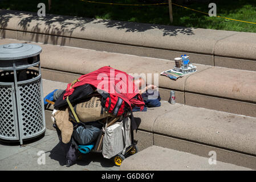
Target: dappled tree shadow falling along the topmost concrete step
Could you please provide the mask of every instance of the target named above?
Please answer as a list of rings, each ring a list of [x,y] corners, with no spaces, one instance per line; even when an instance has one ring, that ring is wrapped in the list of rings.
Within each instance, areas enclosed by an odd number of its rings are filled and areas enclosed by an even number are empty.
[[[72,37],[75,30],[76,32],[84,31],[90,23],[100,24],[100,26],[103,25],[103,27],[109,28],[109,31],[112,31],[112,28],[116,28],[118,30],[125,30],[125,32],[146,32],[149,30],[160,31],[162,36],[177,36],[179,34],[194,35],[193,28],[188,27],[91,19],[53,14],[46,14],[46,17],[39,17],[37,13],[12,10],[0,10],[0,22],[0,30],[5,30],[6,28],[11,27],[14,31],[18,29],[18,31],[23,32],[23,35],[27,34],[27,32],[32,32],[29,36],[34,42],[39,42],[39,37],[46,35],[43,38],[43,43],[50,42],[51,44],[60,44],[61,46],[66,42],[66,39],[63,39],[63,37]],[[2,31],[0,36],[5,38],[5,31]],[[40,40],[40,42],[42,42],[42,40]]]

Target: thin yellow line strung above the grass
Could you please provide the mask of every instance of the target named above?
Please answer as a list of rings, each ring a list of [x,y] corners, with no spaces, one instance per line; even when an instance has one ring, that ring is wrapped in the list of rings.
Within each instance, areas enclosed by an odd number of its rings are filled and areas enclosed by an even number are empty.
[[[98,4],[104,4],[104,5],[120,5],[120,6],[152,6],[152,5],[166,5],[166,4],[169,4],[168,2],[165,2],[165,3],[147,4],[147,5],[129,5],[129,4],[108,3],[108,2],[95,2],[95,1],[86,1],[86,0],[79,0],[79,1],[89,2],[89,3],[98,3]],[[196,12],[198,12],[198,13],[202,13],[202,14],[209,15],[208,13],[205,13],[205,12],[203,12],[203,11],[194,10],[194,9],[189,8],[189,7],[177,5],[177,4],[175,4],[175,3],[172,3],[172,5],[180,6],[180,7],[183,7],[183,8],[185,8],[185,9],[188,9],[188,10],[192,10],[192,11],[196,11]],[[226,18],[226,17],[222,17],[222,16],[215,16],[215,17],[224,18],[224,19],[229,19],[229,20],[234,20],[234,21],[237,21],[237,22],[256,24],[255,22],[246,22],[246,21],[243,21],[243,20],[232,19],[232,18]]]

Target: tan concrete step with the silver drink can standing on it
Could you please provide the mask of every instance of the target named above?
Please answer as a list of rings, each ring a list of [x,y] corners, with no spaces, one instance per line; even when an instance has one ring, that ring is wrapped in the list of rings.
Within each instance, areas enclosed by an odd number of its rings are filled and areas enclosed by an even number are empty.
[[[66,86],[43,80],[44,96]],[[53,129],[51,109],[46,110],[48,129]],[[139,150],[156,145],[206,158],[209,151],[216,151],[221,162],[256,169],[256,118],[166,101],[134,116],[139,123],[134,131]]]

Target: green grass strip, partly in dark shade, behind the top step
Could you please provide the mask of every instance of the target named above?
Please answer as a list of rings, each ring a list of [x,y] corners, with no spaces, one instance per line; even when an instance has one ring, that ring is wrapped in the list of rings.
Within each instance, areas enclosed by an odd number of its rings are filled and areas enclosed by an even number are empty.
[[[96,2],[143,4],[142,0],[91,0]],[[47,6],[47,12],[58,15],[83,16],[87,18],[101,18],[124,20],[129,22],[168,24],[168,5],[157,6],[119,6],[103,5],[96,3],[82,2],[79,0],[52,0],[52,9],[48,10],[48,0],[0,0],[0,9],[38,11],[38,3],[43,2]],[[168,2],[145,0],[147,3]],[[255,0],[216,0],[210,1],[217,5],[217,15],[227,18],[256,22],[256,1]],[[208,13],[208,3],[190,3],[184,5],[192,9]],[[197,13],[182,7],[173,5],[173,23],[175,26],[212,28],[218,30],[256,32],[256,24],[235,22],[217,17]]]

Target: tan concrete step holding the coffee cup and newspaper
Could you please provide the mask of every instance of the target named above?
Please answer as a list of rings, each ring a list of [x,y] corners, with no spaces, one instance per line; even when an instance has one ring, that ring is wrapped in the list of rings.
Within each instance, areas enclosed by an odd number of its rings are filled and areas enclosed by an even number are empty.
[[[1,44],[22,43],[1,39]],[[35,43],[38,44],[38,43]],[[160,76],[173,68],[174,61],[38,44],[42,77],[59,82],[72,82],[80,75],[110,65],[127,73],[145,75],[148,81],[159,85],[162,100],[168,101],[170,90],[176,91],[176,102],[256,117],[256,72],[194,64],[197,72],[176,81]],[[192,60],[193,62],[193,60]]]

